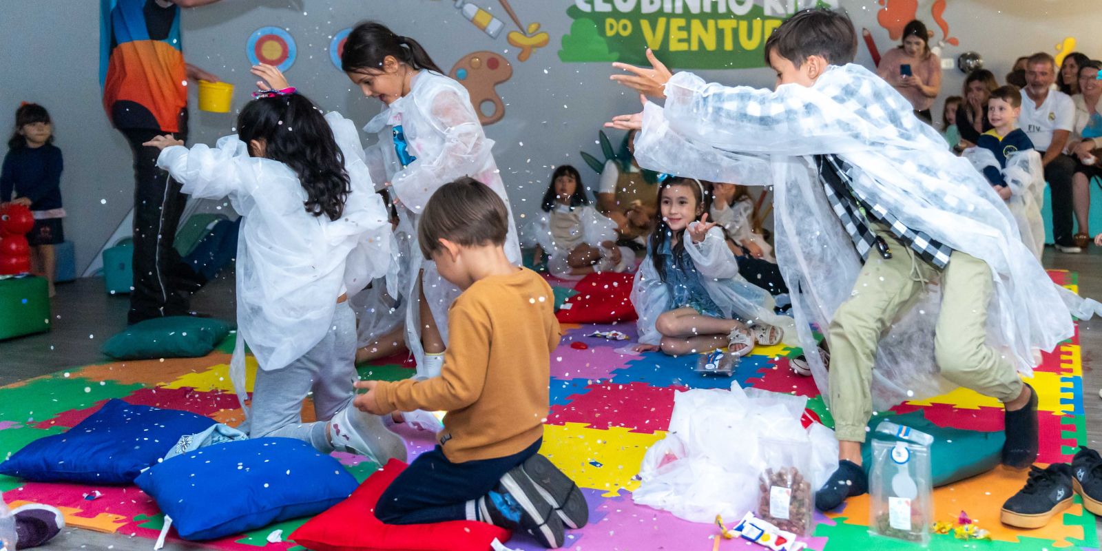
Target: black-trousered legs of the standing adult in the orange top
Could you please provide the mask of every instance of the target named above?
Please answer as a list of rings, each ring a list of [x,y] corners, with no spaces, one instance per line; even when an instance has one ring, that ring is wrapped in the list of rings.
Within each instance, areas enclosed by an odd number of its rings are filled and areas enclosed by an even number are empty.
[[[171,132],[123,129],[122,133],[134,156],[134,288],[130,293],[128,322],[184,315],[188,300],[179,290],[177,270],[182,261],[173,241],[186,197],[180,193],[180,183],[156,166],[160,150],[142,145],[154,136]]]

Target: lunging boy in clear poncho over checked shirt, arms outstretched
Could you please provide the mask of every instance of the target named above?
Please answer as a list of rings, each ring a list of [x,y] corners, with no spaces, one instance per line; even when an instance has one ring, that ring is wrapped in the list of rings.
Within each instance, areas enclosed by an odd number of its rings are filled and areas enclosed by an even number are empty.
[[[776,91],[671,76],[648,53],[653,68],[615,64],[630,74],[613,79],[665,96],[665,109],[646,104],[608,123],[642,130],[645,168],[775,186],[777,259],[840,444],[820,509],[866,491],[861,443],[874,398],[933,396],[941,379],[1003,401],[1003,462],[1028,466],[1037,399],[1016,371],[1072,335],[1071,314],[1098,307],[1051,282],[985,179],[851,63],[856,45],[846,17],[797,13],[766,42]],[[812,324],[827,334],[829,372]]]

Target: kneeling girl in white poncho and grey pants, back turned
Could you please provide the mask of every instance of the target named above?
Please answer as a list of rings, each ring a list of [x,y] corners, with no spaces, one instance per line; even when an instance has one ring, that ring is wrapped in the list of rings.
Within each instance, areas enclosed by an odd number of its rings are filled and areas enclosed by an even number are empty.
[[[269,78],[271,83],[273,79]],[[280,78],[282,80],[282,78]],[[229,197],[241,215],[237,347],[230,376],[250,437],[285,436],[321,452],[406,458],[383,421],[352,406],[356,318],[347,298],[386,273],[390,225],[352,121],[322,116],[294,88],[257,93],[237,136],[191,150],[171,136],[158,165],[195,197]],[[339,144],[339,145],[338,145]],[[245,346],[257,357],[246,409]],[[313,392],[317,420],[303,423]]]

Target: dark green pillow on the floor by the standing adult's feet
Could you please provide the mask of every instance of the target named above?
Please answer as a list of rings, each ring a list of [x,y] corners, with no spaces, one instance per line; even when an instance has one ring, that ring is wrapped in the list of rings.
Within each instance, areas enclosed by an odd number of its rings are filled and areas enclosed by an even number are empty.
[[[209,317],[154,317],[122,329],[100,350],[115,359],[197,358],[210,354],[233,328]]]

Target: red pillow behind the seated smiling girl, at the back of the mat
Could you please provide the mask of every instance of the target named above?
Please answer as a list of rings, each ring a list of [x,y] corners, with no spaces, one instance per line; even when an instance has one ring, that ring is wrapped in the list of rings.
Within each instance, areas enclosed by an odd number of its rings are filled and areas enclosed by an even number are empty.
[[[616,323],[639,317],[631,305],[630,273],[591,273],[574,285],[577,294],[566,299],[555,317],[560,323]],[[570,306],[566,306],[570,304]]]

